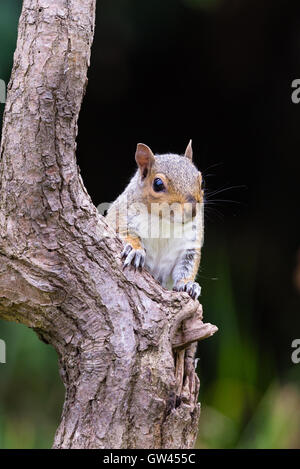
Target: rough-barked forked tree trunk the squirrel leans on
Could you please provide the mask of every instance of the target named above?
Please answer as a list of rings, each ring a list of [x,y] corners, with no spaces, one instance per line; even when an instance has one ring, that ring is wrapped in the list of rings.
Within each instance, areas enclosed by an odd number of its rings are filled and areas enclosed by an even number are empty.
[[[190,448],[199,382],[194,369],[182,376],[176,401],[172,343],[216,328],[187,294],[122,270],[121,241],[76,164],[95,4],[23,3],[1,143],[0,318],[57,350],[66,398],[55,448]]]

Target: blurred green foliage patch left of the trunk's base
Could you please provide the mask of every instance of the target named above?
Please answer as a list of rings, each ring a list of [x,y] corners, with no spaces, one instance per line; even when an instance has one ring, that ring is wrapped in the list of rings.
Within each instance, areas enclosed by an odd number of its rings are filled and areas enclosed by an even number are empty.
[[[56,352],[20,324],[0,321],[0,337],[0,448],[49,448],[64,395]]]

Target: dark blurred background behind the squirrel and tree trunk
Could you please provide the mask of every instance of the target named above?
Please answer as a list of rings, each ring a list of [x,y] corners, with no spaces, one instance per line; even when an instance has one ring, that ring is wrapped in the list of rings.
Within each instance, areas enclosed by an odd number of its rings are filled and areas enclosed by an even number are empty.
[[[206,181],[198,280],[205,319],[220,330],[198,350],[197,444],[300,447],[300,364],[291,361],[300,338],[300,104],[291,100],[300,78],[299,0],[97,4],[78,136],[94,203],[124,189],[137,142],[182,153],[192,138]],[[6,81],[20,5],[0,6]],[[0,446],[49,446],[63,397],[55,354],[20,326],[1,322],[0,338],[8,348]]]

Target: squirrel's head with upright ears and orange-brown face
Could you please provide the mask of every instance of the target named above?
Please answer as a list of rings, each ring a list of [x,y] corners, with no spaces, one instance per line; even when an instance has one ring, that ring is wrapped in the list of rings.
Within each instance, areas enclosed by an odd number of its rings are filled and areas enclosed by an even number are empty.
[[[154,155],[147,145],[138,143],[135,159],[142,198],[147,201],[149,210],[152,203],[195,207],[203,202],[202,175],[192,161],[191,140],[184,155]]]

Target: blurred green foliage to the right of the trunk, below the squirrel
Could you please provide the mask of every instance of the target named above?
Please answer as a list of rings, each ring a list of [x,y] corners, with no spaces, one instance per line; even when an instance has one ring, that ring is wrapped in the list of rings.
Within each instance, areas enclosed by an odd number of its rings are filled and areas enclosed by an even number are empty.
[[[291,349],[279,375],[272,350],[259,349],[251,324],[251,269],[242,310],[224,248],[226,235],[223,245],[216,241],[216,233],[208,233],[198,278],[205,286],[204,317],[217,324],[219,332],[198,350],[203,411],[197,447],[299,448],[299,371],[291,362]],[[204,275],[208,272],[217,273],[213,284]]]

